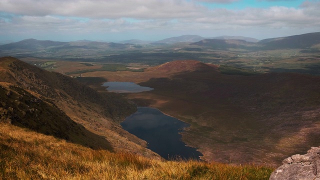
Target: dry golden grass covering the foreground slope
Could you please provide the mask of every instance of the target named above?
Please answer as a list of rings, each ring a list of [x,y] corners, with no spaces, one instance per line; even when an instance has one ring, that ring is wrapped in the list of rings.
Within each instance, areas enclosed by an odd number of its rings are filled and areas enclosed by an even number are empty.
[[[0,179],[268,179],[272,170],[92,150],[0,123]]]

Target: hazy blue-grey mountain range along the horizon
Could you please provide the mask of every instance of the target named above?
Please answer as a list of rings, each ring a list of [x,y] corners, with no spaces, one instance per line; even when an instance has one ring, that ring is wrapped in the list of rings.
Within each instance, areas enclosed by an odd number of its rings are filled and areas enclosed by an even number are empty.
[[[83,51],[91,50],[89,53],[94,55],[98,52],[105,53],[106,51],[115,52],[116,50],[124,50],[130,48],[148,48],[152,46],[166,46],[175,44],[177,47],[191,50],[232,50],[242,49],[245,51],[257,50],[274,50],[274,49],[302,49],[310,52],[320,52],[318,48],[320,45],[320,32],[306,33],[301,35],[292,35],[286,37],[268,38],[258,41],[257,39],[243,36],[218,36],[218,37],[201,37],[199,35],[181,35],[178,37],[170,37],[159,41],[142,41],[131,39],[120,41],[122,43],[114,42],[97,42],[89,40],[78,40],[72,42],[59,42],[51,40],[36,40],[24,39],[18,42],[0,45],[1,55],[12,55],[12,52],[26,52],[26,50],[44,50],[45,56],[50,56],[50,53],[69,53],[69,50]],[[183,44],[177,44],[184,42]],[[189,43],[187,43],[189,42]],[[2,53],[1,53],[2,52]],[[5,53],[3,53],[5,52]],[[29,53],[29,51],[27,51]],[[37,51],[39,53],[39,51]],[[44,52],[41,51],[43,54]],[[74,51],[74,53],[76,53]]]

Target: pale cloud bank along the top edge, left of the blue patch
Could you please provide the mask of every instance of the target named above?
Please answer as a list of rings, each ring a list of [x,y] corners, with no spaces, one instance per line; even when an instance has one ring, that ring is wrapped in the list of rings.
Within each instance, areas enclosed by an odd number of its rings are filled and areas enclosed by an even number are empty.
[[[204,6],[184,0],[4,0],[0,2],[0,11],[8,13],[110,19],[183,18],[200,15],[203,10]]]

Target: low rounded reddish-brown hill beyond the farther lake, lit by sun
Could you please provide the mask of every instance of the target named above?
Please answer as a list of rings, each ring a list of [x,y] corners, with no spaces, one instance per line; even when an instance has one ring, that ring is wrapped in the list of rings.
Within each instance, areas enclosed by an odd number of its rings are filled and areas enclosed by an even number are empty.
[[[145,71],[154,72],[207,72],[217,71],[217,65],[202,63],[197,60],[175,60],[164,64],[150,67]]]

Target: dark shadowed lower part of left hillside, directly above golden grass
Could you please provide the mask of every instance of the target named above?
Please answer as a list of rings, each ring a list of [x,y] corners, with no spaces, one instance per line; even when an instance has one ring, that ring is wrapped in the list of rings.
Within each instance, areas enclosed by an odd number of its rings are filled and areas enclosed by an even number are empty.
[[[0,85],[0,116],[0,122],[25,127],[92,149],[112,151],[111,144],[103,136],[73,121],[51,101],[38,98],[18,86]]]

